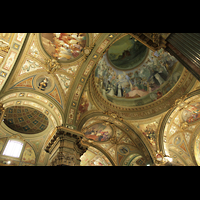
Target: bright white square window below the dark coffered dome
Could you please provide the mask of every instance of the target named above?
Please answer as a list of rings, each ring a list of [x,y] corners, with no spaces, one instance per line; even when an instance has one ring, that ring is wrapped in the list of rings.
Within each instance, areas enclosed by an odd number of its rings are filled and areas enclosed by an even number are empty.
[[[9,140],[3,152],[3,155],[19,158],[22,147],[23,143],[16,140]]]

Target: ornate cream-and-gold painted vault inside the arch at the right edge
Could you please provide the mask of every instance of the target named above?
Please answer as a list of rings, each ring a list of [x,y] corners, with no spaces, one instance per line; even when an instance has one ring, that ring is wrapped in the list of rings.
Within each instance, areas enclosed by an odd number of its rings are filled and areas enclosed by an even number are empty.
[[[163,151],[182,165],[199,165],[199,100],[195,95],[180,101],[165,125]]]

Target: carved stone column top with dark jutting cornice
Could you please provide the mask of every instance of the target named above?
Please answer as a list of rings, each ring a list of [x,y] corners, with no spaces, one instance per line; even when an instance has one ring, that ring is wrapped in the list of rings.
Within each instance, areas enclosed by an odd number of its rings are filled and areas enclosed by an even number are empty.
[[[88,146],[83,143],[83,133],[66,127],[58,127],[56,134],[47,144],[50,166],[80,166],[80,157]]]

